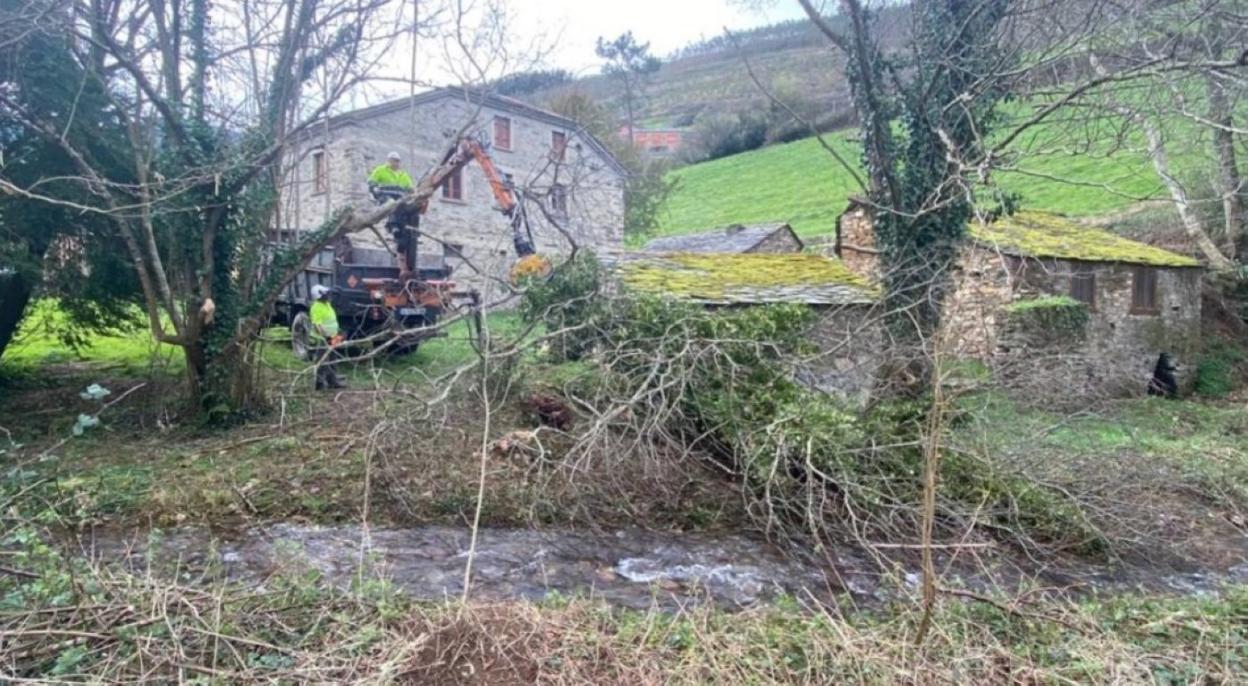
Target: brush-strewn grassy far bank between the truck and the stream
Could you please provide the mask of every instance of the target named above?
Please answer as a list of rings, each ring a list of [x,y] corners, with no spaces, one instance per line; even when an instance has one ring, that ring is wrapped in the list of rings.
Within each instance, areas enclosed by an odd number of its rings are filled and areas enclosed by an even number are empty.
[[[493,438],[532,438],[490,459],[485,524],[688,529],[744,519],[733,486],[695,459],[635,459],[638,447],[622,439],[565,468],[578,427],[567,433],[544,427],[524,403],[529,384],[547,378],[538,369],[514,379],[493,408]],[[276,395],[273,413],[226,432],[176,425],[176,405],[162,403],[176,398],[170,379],[99,380],[115,393],[149,385],[110,409],[100,428],[69,442],[76,414],[90,412],[77,397],[85,378],[19,387],[0,405],[0,428],[21,444],[11,452],[22,465],[20,478],[5,490],[37,483],[24,494],[24,510],[55,511],[66,526],[240,528],[362,516],[393,525],[462,524],[475,505],[475,440],[484,420],[468,379],[437,403],[409,385],[371,389],[363,382],[338,395],[286,393]]]

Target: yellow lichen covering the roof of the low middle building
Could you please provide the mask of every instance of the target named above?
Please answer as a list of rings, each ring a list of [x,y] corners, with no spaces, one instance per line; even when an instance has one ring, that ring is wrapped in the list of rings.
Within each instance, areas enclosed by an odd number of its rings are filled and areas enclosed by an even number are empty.
[[[626,286],[695,299],[734,299],[766,289],[846,287],[875,297],[839,259],[802,253],[665,253],[622,266]]]

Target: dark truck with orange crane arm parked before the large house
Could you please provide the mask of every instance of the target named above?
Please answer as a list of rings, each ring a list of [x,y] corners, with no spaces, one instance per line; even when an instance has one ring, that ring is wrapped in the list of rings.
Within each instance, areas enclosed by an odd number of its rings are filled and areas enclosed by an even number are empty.
[[[474,138],[456,141],[443,165],[461,168],[475,160],[485,172],[498,210],[509,221],[513,244],[519,259],[537,261],[539,271],[549,271],[549,262],[537,254],[533,233],[519,195],[504,181],[489,158],[488,146]],[[378,202],[398,200],[409,188],[371,188]],[[479,317],[480,296],[459,289],[452,279],[452,268],[441,253],[417,249],[419,220],[426,205],[409,211],[397,211],[386,222],[393,246],[386,248],[357,244],[351,236],[322,248],[312,261],[286,286],[273,307],[272,323],[290,327],[291,348],[300,359],[313,354],[312,326],[308,319],[312,287],[329,288],[329,298],[338,313],[338,329],[344,337],[344,350],[383,344],[392,354],[409,353],[421,342],[444,336],[438,319],[451,311],[466,311]],[[293,237],[293,236],[288,236]]]

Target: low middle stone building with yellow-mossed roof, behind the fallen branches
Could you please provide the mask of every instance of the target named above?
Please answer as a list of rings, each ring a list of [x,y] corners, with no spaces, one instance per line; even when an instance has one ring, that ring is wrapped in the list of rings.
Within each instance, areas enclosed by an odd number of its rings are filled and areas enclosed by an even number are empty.
[[[799,367],[811,387],[866,402],[882,333],[879,289],[840,261],[794,253],[623,253],[605,256],[620,288],[706,307],[805,304],[816,312],[817,352]]]

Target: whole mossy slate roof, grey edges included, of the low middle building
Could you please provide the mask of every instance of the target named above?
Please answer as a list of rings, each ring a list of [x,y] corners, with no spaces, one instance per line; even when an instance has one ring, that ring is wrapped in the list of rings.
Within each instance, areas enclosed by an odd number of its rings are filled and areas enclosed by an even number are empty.
[[[802,253],[622,253],[625,287],[708,304],[870,304],[879,291],[839,259]]]

